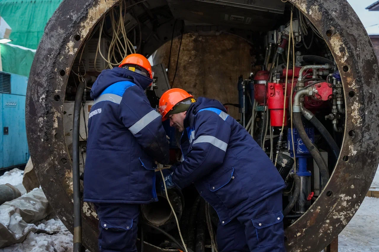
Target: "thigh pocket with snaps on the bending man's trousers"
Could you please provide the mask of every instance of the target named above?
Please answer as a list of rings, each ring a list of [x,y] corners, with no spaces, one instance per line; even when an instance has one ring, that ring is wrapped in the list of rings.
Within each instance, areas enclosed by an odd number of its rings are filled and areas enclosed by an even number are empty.
[[[283,214],[280,211],[251,219],[257,231],[259,247],[284,242]]]

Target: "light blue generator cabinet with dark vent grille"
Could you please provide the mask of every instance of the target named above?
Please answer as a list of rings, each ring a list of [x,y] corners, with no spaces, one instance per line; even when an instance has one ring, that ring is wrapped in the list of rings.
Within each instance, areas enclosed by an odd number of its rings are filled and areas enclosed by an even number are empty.
[[[0,72],[0,171],[28,162],[25,96],[28,78]]]

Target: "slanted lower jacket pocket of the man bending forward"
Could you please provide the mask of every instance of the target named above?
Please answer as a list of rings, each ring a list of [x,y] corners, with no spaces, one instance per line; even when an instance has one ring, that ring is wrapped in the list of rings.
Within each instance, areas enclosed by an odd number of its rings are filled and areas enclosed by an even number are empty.
[[[228,209],[232,209],[250,199],[233,167],[213,179],[209,183],[209,190],[218,196]]]

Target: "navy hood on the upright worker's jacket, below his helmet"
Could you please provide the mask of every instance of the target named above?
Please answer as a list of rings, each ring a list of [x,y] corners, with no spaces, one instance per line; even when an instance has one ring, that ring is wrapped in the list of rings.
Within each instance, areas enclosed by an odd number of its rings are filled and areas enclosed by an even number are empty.
[[[115,67],[103,70],[92,85],[91,98],[96,99],[109,86],[120,81],[130,81],[145,90],[153,81],[149,77],[140,75],[125,68]]]

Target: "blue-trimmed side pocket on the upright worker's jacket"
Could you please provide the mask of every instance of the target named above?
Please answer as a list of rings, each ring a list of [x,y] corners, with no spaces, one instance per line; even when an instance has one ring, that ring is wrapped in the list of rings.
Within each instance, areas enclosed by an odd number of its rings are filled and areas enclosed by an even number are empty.
[[[139,158],[138,194],[155,196],[155,168],[157,165],[150,159]]]

